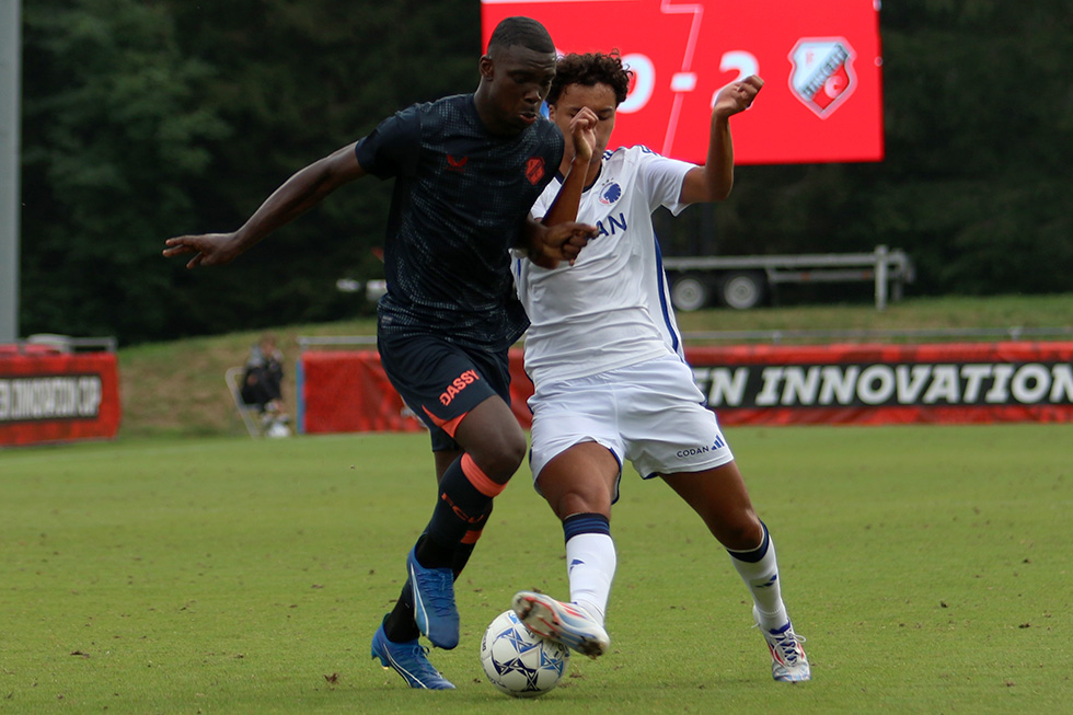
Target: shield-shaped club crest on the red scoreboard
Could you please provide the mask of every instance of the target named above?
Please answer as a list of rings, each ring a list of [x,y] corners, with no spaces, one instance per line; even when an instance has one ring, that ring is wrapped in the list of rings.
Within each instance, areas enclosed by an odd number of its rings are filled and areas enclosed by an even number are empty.
[[[794,66],[789,89],[805,106],[826,119],[857,88],[855,57],[842,37],[801,37],[789,53]]]

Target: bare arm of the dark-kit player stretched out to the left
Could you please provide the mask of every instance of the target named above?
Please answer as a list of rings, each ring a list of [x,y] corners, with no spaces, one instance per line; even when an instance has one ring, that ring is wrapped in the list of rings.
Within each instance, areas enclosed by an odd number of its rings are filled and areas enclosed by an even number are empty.
[[[164,257],[193,253],[187,268],[231,263],[279,227],[310,210],[336,188],[366,174],[354,153],[343,147],[288,178],[253,216],[232,233],[181,235],[164,241]]]

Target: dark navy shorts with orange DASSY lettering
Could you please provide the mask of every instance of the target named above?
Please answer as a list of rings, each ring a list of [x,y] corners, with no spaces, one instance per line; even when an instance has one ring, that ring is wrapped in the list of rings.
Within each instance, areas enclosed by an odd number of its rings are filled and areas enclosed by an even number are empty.
[[[380,335],[380,362],[406,406],[428,426],[432,451],[459,450],[462,418],[493,395],[510,404],[507,350],[463,348],[435,335]]]

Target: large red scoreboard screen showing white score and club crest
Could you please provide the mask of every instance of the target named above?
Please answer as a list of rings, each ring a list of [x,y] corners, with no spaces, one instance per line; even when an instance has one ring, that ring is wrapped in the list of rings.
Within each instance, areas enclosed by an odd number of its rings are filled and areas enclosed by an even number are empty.
[[[878,0],[483,0],[485,47],[511,15],[539,20],[563,54],[618,48],[636,72],[612,148],[703,163],[714,96],[759,74],[732,122],[736,163],[884,157]]]

